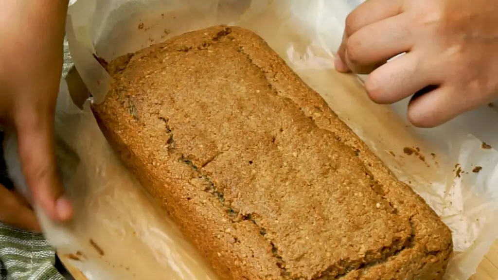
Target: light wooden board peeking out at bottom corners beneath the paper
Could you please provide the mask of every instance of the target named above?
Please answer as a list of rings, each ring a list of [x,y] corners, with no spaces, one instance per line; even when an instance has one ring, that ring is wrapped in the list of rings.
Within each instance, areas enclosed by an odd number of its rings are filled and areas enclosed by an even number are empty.
[[[68,272],[75,280],[87,280],[85,276],[69,264],[69,260],[64,256],[59,256]],[[483,260],[477,274],[470,280],[498,280],[498,241],[493,245],[490,252]]]

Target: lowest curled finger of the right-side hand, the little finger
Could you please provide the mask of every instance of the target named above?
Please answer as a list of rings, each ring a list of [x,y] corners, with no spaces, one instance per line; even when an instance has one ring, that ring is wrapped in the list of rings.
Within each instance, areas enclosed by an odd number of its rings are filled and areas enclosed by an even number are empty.
[[[461,98],[465,91],[441,86],[414,97],[408,105],[408,120],[416,127],[432,128],[482,104],[480,97]]]

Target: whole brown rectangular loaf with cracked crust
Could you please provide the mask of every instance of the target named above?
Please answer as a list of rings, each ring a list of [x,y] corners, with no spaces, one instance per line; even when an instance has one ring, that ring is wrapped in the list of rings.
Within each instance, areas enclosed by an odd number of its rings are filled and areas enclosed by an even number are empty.
[[[99,125],[221,279],[442,279],[449,229],[254,33],[107,69]]]

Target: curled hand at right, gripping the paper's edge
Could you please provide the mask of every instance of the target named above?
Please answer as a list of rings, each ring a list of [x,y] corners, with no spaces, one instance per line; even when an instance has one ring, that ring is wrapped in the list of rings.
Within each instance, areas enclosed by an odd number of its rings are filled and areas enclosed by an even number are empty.
[[[498,2],[367,0],[346,20],[335,65],[370,74],[377,103],[413,96],[413,125],[443,124],[498,97]]]

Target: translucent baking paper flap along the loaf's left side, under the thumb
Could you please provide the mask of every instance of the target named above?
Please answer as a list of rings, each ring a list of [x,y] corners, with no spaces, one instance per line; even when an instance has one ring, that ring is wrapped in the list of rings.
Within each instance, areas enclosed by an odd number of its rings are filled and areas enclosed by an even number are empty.
[[[71,223],[56,225],[37,205],[34,208],[59,257],[87,280],[217,279],[121,164],[89,104],[81,111],[72,103],[65,80],[61,81],[55,125],[57,159],[66,167],[61,175],[76,215]],[[15,135],[7,133],[3,145],[9,176],[30,199]],[[79,156],[77,160],[72,152]]]

